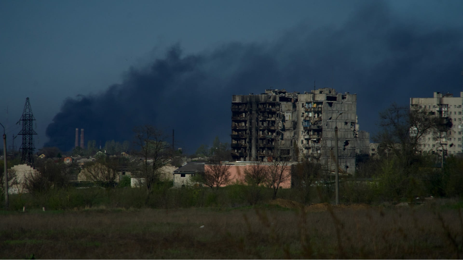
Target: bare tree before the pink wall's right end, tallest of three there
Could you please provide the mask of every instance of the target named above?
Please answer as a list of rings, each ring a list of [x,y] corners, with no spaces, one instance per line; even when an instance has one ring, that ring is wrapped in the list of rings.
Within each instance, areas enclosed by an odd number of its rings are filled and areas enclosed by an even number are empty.
[[[280,186],[291,180],[291,165],[287,161],[286,155],[286,153],[282,153],[282,149],[275,148],[268,156],[271,162],[267,171],[266,183],[273,189],[273,199],[276,198]]]

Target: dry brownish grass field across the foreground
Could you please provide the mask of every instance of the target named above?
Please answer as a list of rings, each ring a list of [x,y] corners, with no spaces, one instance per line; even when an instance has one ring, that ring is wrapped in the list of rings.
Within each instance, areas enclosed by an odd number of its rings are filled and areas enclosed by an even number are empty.
[[[0,258],[460,259],[461,208],[278,205],[0,214]]]

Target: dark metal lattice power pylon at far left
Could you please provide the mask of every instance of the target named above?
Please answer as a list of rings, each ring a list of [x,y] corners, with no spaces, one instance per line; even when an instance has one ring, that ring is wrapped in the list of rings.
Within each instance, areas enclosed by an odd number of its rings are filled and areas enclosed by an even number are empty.
[[[31,103],[29,103],[29,98],[26,98],[26,104],[24,105],[23,116],[20,121],[23,121],[23,129],[19,132],[18,135],[23,136],[23,143],[21,144],[22,155],[21,155],[21,164],[28,163],[32,167],[34,166],[34,142],[32,139],[33,135],[37,133],[32,129],[32,121],[34,121],[34,115],[32,115]]]

